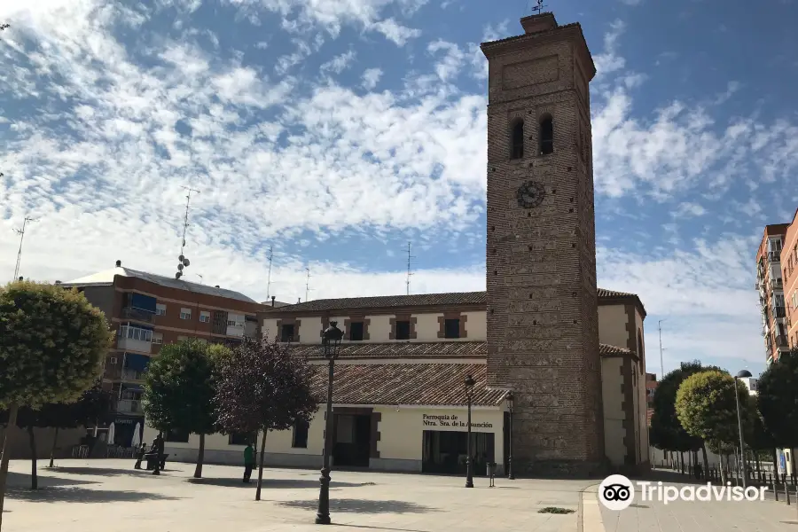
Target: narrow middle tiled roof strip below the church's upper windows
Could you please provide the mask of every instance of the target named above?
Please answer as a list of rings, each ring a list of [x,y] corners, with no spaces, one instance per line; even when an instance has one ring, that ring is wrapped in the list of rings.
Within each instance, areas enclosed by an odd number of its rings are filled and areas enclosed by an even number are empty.
[[[291,347],[297,356],[321,358],[321,345],[297,344]],[[484,341],[431,341],[393,343],[344,343],[340,358],[482,358],[488,356]]]

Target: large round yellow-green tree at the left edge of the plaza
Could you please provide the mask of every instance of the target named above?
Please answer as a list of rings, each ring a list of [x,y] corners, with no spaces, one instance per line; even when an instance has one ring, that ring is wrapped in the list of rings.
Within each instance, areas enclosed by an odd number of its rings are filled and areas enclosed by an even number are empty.
[[[0,404],[9,410],[9,424],[16,424],[20,407],[79,397],[102,371],[111,339],[106,317],[76,290],[29,281],[0,289]],[[7,472],[4,452],[0,526]]]

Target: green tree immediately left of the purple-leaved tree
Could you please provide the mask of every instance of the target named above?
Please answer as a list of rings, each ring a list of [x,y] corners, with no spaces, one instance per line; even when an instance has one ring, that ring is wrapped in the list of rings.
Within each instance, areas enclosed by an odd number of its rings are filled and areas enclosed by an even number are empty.
[[[200,434],[200,450],[194,477],[202,477],[205,436],[217,431],[213,405],[215,367],[228,349],[189,339],[160,348],[147,368],[144,409],[147,422],[167,432],[180,429]]]

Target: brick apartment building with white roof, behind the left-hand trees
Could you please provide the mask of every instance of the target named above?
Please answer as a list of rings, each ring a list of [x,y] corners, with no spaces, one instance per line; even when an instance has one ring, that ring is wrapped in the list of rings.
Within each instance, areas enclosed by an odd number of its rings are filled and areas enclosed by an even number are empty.
[[[113,443],[129,447],[144,426],[142,385],[147,365],[164,344],[187,338],[235,345],[257,331],[265,305],[219,286],[205,286],[123,267],[74,279],[74,287],[101,309],[113,331],[103,384],[113,392]],[[104,427],[99,427],[100,429]]]

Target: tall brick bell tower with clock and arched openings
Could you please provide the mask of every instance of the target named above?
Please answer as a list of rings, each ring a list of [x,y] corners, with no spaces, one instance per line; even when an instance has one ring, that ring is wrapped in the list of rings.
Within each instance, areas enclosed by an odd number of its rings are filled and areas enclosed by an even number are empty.
[[[552,13],[482,43],[489,62],[488,374],[514,390],[513,470],[599,474],[601,401],[591,103],[576,24]]]

